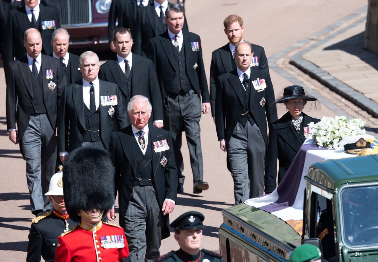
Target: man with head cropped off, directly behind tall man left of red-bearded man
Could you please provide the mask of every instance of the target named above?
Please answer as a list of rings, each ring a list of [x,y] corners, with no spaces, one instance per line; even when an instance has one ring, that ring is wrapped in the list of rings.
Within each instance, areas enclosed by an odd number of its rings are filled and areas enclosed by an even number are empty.
[[[169,5],[172,5],[172,3],[169,3],[168,0],[155,0],[146,8],[138,10],[139,15],[135,22],[135,34],[133,34],[133,52],[135,54],[147,56],[150,39],[167,31],[164,14]],[[182,28],[189,31],[185,16]]]

